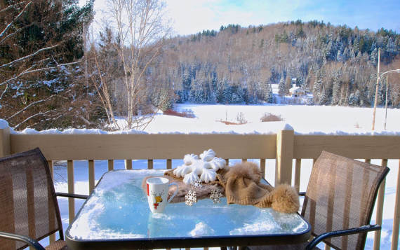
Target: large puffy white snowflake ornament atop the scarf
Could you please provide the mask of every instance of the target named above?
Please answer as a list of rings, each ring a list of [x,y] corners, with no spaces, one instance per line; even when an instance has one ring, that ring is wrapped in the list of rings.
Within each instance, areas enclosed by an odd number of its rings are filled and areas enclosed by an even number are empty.
[[[173,170],[173,174],[183,177],[183,182],[189,184],[196,179],[200,179],[204,183],[215,181],[217,179],[217,171],[226,168],[226,162],[222,158],[215,157],[212,149],[204,151],[200,158],[197,155],[185,155],[184,164]]]

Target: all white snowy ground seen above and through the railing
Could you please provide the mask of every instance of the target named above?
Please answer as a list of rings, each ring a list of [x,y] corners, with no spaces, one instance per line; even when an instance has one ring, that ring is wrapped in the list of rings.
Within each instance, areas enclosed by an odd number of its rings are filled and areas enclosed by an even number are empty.
[[[289,105],[197,105],[178,104],[177,111],[189,111],[194,118],[180,118],[176,116],[165,116],[161,113],[154,117],[145,132],[147,133],[238,133],[238,134],[269,134],[281,130],[286,124],[291,125],[296,133],[300,134],[396,134],[400,135],[400,109],[388,109],[387,130],[383,130],[385,109],[377,110],[375,131],[371,130],[372,113],[371,108],[351,108],[341,106],[289,106]],[[237,123],[240,116],[247,121],[244,125],[225,125],[220,121]],[[281,116],[281,122],[262,123],[260,118],[265,113],[273,113]],[[24,133],[32,133],[26,130]],[[52,131],[55,132],[55,131]],[[105,133],[98,130],[65,130],[61,133]],[[135,131],[129,131],[135,133]],[[48,132],[41,132],[48,133]],[[58,132],[60,133],[60,132]],[[205,150],[207,148],[204,148]],[[199,154],[201,152],[192,152]],[[218,156],[218,152],[217,156]],[[182,152],[182,157],[185,152]],[[380,164],[373,160],[372,163]],[[181,160],[173,160],[173,167],[182,164]],[[305,190],[311,169],[311,160],[302,162],[302,183],[300,190]],[[124,168],[124,161],[116,161],[116,169]],[[398,160],[389,160],[391,171],[387,176],[385,188],[385,207],[382,223],[382,239],[380,249],[389,249],[392,239],[392,224],[394,216],[394,197],[396,188],[396,176],[399,169]],[[165,168],[165,160],[154,160],[154,168]],[[147,161],[136,160],[134,168],[146,168]],[[88,193],[88,167],[87,162],[75,162],[75,192]],[[107,171],[107,162],[95,161],[95,179],[100,179],[102,173]],[[267,176],[269,181],[274,180],[274,161],[267,160]],[[65,167],[55,167],[56,190],[66,191],[67,171]],[[67,200],[60,198],[60,209],[64,229],[68,225]],[[81,206],[81,201],[76,201],[76,211]],[[373,215],[373,219],[375,214]],[[373,221],[371,222],[373,223]],[[366,249],[372,249],[373,233],[368,234]]]

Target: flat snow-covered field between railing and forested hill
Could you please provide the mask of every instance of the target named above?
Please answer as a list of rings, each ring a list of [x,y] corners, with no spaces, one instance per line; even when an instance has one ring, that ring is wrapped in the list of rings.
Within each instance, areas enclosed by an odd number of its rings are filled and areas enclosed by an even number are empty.
[[[343,106],[300,106],[300,105],[197,105],[177,104],[177,111],[192,111],[195,118],[156,116],[145,130],[149,133],[261,133],[280,130],[287,123],[295,132],[302,134],[400,134],[400,110],[387,110],[387,130],[384,130],[385,109],[378,108],[375,132],[371,130],[371,108]],[[248,123],[225,125],[220,120],[237,123],[242,114]],[[260,118],[272,113],[283,118],[282,122],[262,123]]]

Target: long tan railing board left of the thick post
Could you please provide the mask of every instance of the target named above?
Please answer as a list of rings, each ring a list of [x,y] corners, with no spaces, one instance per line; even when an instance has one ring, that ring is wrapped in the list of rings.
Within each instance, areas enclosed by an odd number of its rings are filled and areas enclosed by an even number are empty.
[[[39,147],[49,160],[182,159],[213,148],[220,158],[276,157],[275,134],[11,134],[11,151]]]

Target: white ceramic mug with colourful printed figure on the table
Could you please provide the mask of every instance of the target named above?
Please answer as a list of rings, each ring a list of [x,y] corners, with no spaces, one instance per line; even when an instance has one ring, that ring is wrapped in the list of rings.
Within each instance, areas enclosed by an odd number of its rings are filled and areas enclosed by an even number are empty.
[[[176,193],[178,193],[178,184],[173,182],[169,183],[169,180],[164,177],[152,177],[146,180],[147,184],[147,201],[149,202],[150,211],[153,213],[162,213],[166,207],[166,204],[171,202]],[[169,186],[175,185],[176,190],[169,200],[168,189]]]

